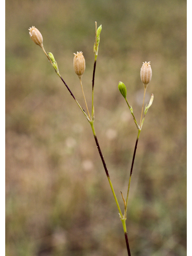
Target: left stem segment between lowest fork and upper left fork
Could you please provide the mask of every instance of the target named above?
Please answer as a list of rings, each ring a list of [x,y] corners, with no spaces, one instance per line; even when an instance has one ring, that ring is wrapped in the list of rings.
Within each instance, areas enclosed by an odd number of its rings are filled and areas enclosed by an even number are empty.
[[[93,135],[94,135],[94,139],[95,139],[95,142],[96,142],[96,145],[97,145],[99,154],[100,154],[100,158],[101,158],[101,160],[102,160],[102,163],[103,163],[103,166],[104,166],[104,169],[105,169],[105,172],[106,172],[106,175],[107,175],[107,178],[108,178],[108,181],[109,181],[109,184],[110,184],[110,187],[111,187],[113,196],[114,196],[114,198],[115,198],[115,202],[116,202],[117,208],[118,208],[118,210],[119,210],[120,217],[123,218],[123,214],[122,214],[122,212],[121,212],[121,209],[120,209],[120,206],[119,206],[119,203],[118,203],[118,200],[117,200],[117,197],[116,197],[116,194],[115,194],[115,191],[114,191],[114,188],[113,188],[113,185],[112,185],[112,182],[111,182],[111,180],[110,180],[110,176],[109,176],[109,173],[108,173],[108,170],[107,170],[107,167],[106,167],[106,163],[105,163],[105,161],[104,161],[104,158],[103,158],[103,155],[102,155],[102,152],[101,152],[99,143],[98,143],[98,139],[97,139],[97,137],[96,137],[96,133],[95,133],[95,129],[94,129],[94,124],[93,124],[93,122],[90,122],[90,125],[91,125],[91,128],[92,128],[92,132],[93,132]]]

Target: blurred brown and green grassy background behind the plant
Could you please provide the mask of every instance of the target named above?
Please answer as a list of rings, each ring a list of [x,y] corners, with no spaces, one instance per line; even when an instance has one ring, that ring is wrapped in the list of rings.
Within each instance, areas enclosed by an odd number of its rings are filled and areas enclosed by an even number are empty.
[[[90,125],[39,46],[35,26],[80,104],[91,107],[95,21],[102,24],[95,129],[123,209],[140,119],[142,62],[154,94],[133,170],[127,229],[133,256],[186,255],[186,1],[6,1],[6,256],[125,256],[118,210]]]

